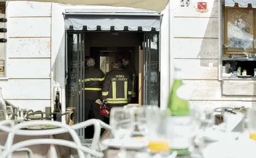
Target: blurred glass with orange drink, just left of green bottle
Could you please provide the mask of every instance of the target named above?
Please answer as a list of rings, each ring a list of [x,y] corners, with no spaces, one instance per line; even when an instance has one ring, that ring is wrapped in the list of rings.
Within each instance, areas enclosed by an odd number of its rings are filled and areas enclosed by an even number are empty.
[[[148,141],[148,150],[152,156],[170,156],[169,142],[167,140],[167,117],[166,111],[162,111],[158,106],[144,105],[135,109],[137,116],[136,123],[138,130]]]

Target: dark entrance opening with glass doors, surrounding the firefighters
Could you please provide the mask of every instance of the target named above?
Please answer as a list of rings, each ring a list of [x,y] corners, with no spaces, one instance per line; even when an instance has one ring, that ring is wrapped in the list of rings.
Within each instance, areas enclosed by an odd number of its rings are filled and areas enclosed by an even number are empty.
[[[66,107],[77,109],[76,122],[85,121],[82,80],[88,57],[104,73],[113,69],[112,62],[131,59],[137,72],[135,103],[160,106],[159,32],[68,30],[66,36]]]

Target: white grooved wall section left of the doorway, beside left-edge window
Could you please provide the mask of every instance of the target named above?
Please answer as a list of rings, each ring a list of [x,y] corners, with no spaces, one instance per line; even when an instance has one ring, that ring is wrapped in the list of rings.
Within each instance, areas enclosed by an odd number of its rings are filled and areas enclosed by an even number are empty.
[[[51,3],[6,2],[3,97],[20,108],[51,106]]]

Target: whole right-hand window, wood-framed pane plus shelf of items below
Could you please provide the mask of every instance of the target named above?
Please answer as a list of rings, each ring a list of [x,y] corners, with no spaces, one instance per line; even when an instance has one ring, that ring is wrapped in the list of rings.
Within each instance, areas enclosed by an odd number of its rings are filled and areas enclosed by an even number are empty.
[[[256,9],[222,4],[222,78],[253,78]],[[242,73],[243,72],[243,73]]]

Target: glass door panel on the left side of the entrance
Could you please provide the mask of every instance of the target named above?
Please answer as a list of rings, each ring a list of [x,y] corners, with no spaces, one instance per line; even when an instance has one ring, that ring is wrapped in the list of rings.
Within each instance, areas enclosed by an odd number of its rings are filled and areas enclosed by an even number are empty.
[[[85,34],[67,33],[66,53],[66,107],[76,108],[75,122],[83,122],[84,119],[84,69],[85,69]],[[77,131],[81,139],[84,139],[85,131]]]

